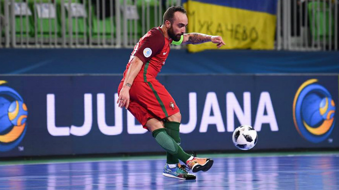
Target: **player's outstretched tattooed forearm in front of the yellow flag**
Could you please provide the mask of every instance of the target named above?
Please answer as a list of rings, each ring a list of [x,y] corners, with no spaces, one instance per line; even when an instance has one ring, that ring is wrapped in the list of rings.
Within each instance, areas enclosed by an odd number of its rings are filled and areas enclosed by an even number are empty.
[[[204,35],[200,33],[188,33],[184,34],[183,44],[201,44],[205,42],[213,42],[217,44],[217,47],[225,45],[223,38],[218,35]]]

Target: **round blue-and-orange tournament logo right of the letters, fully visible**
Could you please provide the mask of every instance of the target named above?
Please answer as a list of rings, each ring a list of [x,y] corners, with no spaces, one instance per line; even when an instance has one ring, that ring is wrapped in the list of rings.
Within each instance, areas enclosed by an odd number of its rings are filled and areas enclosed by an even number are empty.
[[[317,79],[304,82],[293,101],[293,121],[299,134],[318,143],[331,134],[335,124],[335,103],[331,94]]]

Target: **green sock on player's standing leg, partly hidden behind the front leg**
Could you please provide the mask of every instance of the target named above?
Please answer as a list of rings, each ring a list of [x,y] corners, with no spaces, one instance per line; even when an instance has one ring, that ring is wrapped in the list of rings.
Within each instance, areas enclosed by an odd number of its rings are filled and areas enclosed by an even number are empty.
[[[179,122],[175,122],[175,121],[165,121],[165,129],[167,134],[169,135],[169,137],[173,138],[175,140],[175,142],[180,145],[180,137],[179,137],[179,126],[180,123]],[[174,157],[173,155],[169,154],[168,152],[167,154],[167,160],[166,163],[168,164],[177,164],[179,163],[179,159]]]

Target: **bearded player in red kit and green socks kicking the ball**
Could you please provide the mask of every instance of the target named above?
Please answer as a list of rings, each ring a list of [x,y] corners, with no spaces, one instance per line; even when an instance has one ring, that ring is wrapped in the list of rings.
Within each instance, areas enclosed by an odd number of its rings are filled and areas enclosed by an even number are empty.
[[[225,43],[221,36],[185,34],[187,25],[186,10],[171,6],[164,14],[163,25],[152,28],[140,38],[118,87],[117,104],[128,109],[144,128],[151,131],[155,141],[167,152],[163,175],[189,180],[196,177],[187,170],[206,172],[212,167],[213,160],[189,155],[180,147],[179,107],[156,76],[165,65],[171,44],[212,42],[220,48]],[[181,165],[179,160],[186,165]]]

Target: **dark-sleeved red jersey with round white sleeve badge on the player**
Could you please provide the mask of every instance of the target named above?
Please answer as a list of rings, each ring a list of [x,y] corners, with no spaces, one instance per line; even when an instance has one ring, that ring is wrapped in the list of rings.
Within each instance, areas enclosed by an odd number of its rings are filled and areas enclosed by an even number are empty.
[[[134,46],[121,81],[125,80],[126,73],[134,56],[137,56],[144,63],[134,81],[149,82],[156,80],[155,77],[160,72],[162,66],[165,65],[171,43],[172,39],[166,38],[160,27],[152,28]]]

